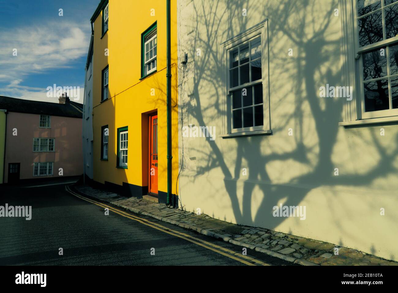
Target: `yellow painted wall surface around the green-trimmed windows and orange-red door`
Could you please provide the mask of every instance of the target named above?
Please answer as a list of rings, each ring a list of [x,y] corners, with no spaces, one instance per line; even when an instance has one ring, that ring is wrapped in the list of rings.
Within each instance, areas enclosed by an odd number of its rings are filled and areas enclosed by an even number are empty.
[[[151,9],[155,16],[151,16]],[[172,61],[172,193],[178,175],[176,0],[171,5]],[[141,33],[157,22],[157,72],[141,78]],[[148,185],[148,121],[143,113],[158,112],[158,190],[167,191],[166,1],[109,1],[109,29],[102,35],[102,15],[94,21],[93,128],[94,180],[122,185]],[[109,49],[109,56],[105,56]],[[101,103],[101,71],[109,64],[108,100]],[[155,96],[151,96],[151,89]],[[109,126],[108,161],[101,157],[101,126]],[[116,168],[117,128],[128,126],[128,169]],[[142,128],[143,127],[143,128]],[[144,129],[144,132],[142,132]],[[144,167],[144,171],[143,171]]]

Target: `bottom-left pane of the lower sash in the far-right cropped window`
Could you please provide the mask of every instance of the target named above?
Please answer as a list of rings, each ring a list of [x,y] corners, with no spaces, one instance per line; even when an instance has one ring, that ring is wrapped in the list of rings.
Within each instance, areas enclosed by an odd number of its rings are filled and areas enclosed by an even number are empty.
[[[389,108],[387,79],[365,83],[364,92],[365,112],[386,110]]]

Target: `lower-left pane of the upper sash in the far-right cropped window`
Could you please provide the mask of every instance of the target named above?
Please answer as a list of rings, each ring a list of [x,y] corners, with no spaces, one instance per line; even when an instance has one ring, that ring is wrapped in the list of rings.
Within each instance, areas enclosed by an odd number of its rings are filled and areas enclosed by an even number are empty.
[[[382,41],[383,27],[381,11],[372,13],[358,20],[359,47]]]

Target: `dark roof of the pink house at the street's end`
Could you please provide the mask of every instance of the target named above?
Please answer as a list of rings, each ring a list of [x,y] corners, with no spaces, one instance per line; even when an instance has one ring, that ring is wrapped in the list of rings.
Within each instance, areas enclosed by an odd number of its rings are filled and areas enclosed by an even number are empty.
[[[83,118],[83,105],[73,101],[58,104],[0,96],[0,109],[5,109],[7,112]]]

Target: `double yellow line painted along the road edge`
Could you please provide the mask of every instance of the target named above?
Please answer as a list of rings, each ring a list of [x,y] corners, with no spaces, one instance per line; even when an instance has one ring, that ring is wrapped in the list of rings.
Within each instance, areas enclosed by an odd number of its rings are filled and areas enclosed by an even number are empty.
[[[240,252],[234,252],[233,250],[230,250],[228,248],[224,248],[222,246],[218,246],[217,244],[213,244],[210,242],[207,242],[205,240],[201,240],[199,238],[193,237],[191,235],[167,228],[165,226],[162,226],[160,224],[151,222],[149,220],[146,220],[144,218],[140,218],[138,216],[135,216],[133,214],[129,214],[123,210],[119,210],[117,208],[114,208],[113,206],[109,206],[106,205],[104,203],[100,203],[98,201],[94,201],[92,199],[88,199],[87,197],[83,197],[77,193],[75,193],[74,191],[72,191],[68,186],[65,186],[66,191],[68,191],[68,193],[71,193],[72,195],[74,195],[75,197],[78,197],[79,199],[82,199],[84,201],[87,201],[89,203],[92,203],[94,205],[98,205],[101,206],[103,208],[109,208],[110,211],[115,212],[116,214],[119,214],[121,216],[124,216],[126,218],[129,218],[131,220],[135,220],[137,222],[140,222],[141,224],[144,224],[146,226],[152,227],[154,229],[160,230],[164,233],[179,237],[181,239],[187,240],[189,242],[195,243],[199,246],[202,246],[204,248],[207,248],[209,250],[212,250],[214,252],[217,252],[218,254],[222,254],[223,256],[226,256],[228,258],[231,258],[233,260],[236,260],[238,262],[241,262],[242,264],[246,264],[246,265],[269,265],[266,264],[264,262],[261,262],[260,260],[257,260],[256,258],[252,258],[250,256],[245,256]]]

